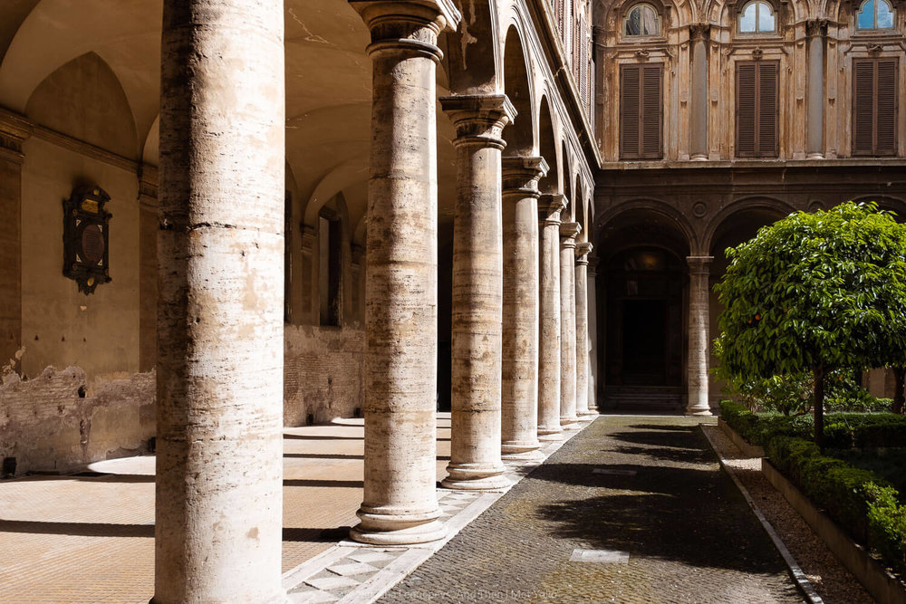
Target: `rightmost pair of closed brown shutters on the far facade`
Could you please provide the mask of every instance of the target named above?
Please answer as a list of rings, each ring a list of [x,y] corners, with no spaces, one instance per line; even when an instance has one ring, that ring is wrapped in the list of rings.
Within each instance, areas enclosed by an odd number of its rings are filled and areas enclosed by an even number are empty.
[[[897,60],[853,60],[853,155],[896,155]]]

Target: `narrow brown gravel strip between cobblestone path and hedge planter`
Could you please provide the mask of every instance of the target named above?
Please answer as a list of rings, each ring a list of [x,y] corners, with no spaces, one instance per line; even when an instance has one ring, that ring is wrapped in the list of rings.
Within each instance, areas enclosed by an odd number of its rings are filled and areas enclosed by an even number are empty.
[[[736,472],[739,481],[758,505],[786,548],[802,567],[815,591],[825,602],[863,604],[874,601],[862,583],[837,560],[824,542],[809,527],[786,499],[761,473],[761,459],[749,458],[716,426],[702,426],[720,455]]]

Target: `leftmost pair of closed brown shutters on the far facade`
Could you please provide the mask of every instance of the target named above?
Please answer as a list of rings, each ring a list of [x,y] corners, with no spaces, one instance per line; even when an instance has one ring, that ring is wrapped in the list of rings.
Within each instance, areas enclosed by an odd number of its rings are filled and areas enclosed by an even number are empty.
[[[663,65],[622,65],[620,71],[620,156],[661,157]]]

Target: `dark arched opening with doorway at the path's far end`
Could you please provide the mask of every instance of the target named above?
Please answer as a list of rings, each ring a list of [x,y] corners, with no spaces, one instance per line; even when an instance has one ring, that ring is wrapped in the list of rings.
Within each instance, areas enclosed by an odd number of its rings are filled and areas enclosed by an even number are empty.
[[[684,404],[689,238],[649,208],[613,217],[596,234],[602,406],[679,411]]]

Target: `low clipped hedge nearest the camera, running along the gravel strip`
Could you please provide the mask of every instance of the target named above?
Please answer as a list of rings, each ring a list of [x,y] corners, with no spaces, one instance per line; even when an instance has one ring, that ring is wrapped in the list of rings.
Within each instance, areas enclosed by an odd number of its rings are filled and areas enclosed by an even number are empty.
[[[906,575],[906,506],[899,503],[896,489],[873,472],[821,455],[813,442],[802,438],[777,436],[766,453],[838,526]]]

